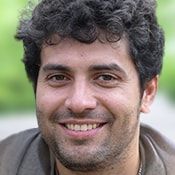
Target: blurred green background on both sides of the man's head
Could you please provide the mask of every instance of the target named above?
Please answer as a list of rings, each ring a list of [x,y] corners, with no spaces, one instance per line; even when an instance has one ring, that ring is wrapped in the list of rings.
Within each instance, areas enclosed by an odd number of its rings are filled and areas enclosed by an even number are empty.
[[[158,20],[166,37],[159,91],[175,102],[175,1],[157,2]],[[21,62],[22,43],[14,39],[20,12],[26,5],[27,0],[0,0],[0,113],[34,110],[32,86]]]

